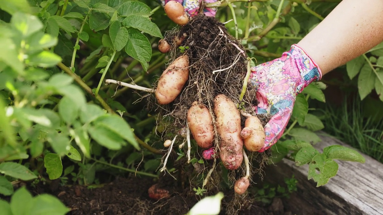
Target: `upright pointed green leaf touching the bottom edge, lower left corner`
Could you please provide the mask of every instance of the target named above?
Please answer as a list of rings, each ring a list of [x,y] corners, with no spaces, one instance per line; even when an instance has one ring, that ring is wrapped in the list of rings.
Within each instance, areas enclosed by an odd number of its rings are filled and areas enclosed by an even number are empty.
[[[20,207],[22,204],[22,207]],[[11,210],[14,215],[30,214],[30,209],[33,205],[33,197],[25,188],[20,187],[11,197]]]

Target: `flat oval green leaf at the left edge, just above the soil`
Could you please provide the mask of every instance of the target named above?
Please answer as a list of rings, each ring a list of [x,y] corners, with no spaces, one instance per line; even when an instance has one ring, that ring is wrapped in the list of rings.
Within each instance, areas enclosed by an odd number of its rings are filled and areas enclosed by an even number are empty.
[[[29,181],[36,179],[37,176],[32,173],[28,168],[14,162],[4,162],[0,164],[0,173],[13,178]]]

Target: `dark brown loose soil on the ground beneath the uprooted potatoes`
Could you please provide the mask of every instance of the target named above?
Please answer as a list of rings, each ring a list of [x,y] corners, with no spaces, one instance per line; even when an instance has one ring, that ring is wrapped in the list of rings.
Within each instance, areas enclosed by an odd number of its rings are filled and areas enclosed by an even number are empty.
[[[199,200],[190,187],[182,188],[180,181],[170,176],[159,181],[139,176],[116,178],[113,182],[92,189],[84,186],[58,186],[58,183],[56,180],[50,185],[38,184],[28,189],[33,195],[49,193],[57,196],[71,209],[67,215],[183,215]],[[148,189],[156,183],[169,191],[169,198],[158,201],[149,198]],[[225,194],[220,214],[226,213],[225,202],[230,202],[232,193],[228,191]],[[281,199],[274,199],[271,205],[253,202],[242,205],[242,208],[239,212],[241,215],[291,214],[285,212]]]

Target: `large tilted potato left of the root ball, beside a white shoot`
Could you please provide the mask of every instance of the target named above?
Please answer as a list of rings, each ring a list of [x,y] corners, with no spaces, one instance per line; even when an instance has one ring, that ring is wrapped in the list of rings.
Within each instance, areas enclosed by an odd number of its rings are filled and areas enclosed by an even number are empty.
[[[155,97],[159,104],[169,104],[177,98],[189,77],[189,58],[181,55],[162,73]]]

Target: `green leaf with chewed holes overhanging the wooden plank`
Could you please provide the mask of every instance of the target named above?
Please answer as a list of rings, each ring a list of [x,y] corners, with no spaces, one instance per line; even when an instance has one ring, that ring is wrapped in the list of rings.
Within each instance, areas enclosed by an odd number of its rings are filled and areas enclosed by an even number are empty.
[[[317,173],[319,171],[319,173]],[[309,171],[307,179],[311,178],[317,182],[317,187],[327,184],[330,178],[336,176],[338,172],[338,164],[331,160],[326,159],[326,155],[318,154],[316,155],[311,163],[309,163]]]

